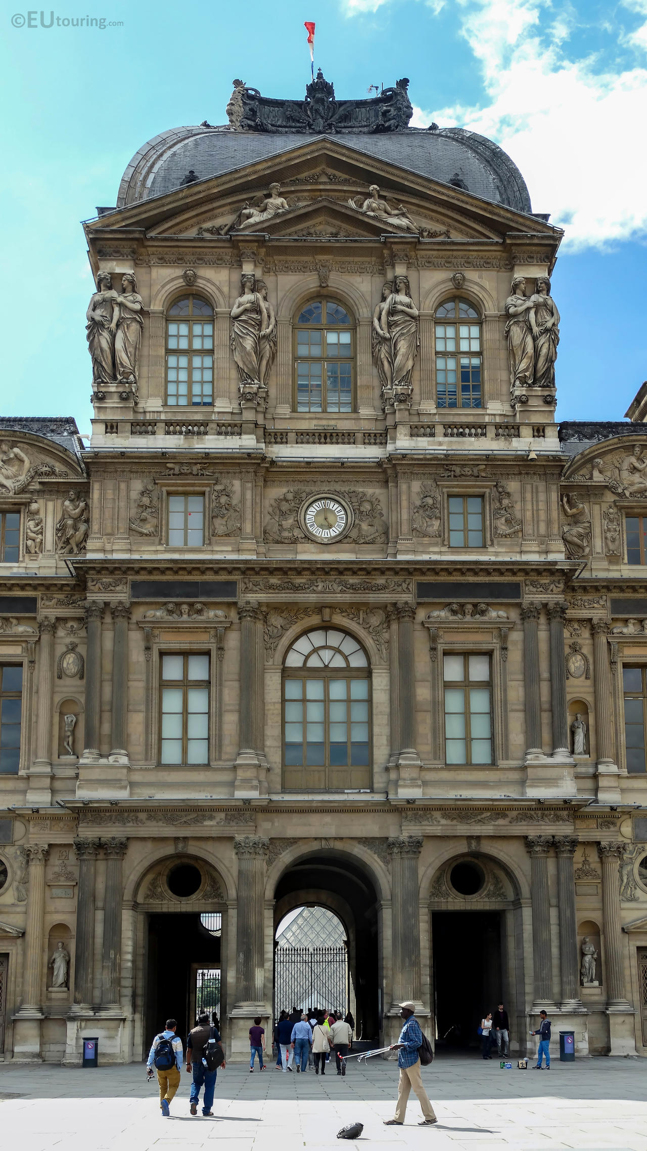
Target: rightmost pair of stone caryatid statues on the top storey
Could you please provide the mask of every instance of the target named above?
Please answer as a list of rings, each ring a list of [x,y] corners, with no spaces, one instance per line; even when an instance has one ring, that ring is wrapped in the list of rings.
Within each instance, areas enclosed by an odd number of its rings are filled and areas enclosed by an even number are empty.
[[[519,388],[554,388],[560,313],[548,276],[538,276],[532,296],[526,296],[525,276],[515,276],[505,314],[512,394]]]

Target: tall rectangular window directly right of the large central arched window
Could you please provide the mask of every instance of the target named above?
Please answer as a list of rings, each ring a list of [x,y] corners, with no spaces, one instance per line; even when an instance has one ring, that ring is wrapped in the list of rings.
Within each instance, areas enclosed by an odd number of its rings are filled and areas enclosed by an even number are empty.
[[[444,655],[447,763],[493,763],[489,655]]]

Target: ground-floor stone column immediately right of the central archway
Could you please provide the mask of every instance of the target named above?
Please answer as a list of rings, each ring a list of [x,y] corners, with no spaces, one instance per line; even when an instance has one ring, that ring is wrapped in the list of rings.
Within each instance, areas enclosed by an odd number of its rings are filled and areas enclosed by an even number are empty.
[[[405,999],[420,1003],[420,910],[418,859],[421,836],[389,839],[391,861],[393,1007]]]

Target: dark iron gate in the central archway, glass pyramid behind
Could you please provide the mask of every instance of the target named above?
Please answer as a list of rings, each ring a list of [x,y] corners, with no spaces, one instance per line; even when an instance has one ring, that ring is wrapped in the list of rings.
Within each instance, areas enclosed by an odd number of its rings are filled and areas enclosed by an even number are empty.
[[[276,947],[274,952],[274,1015],[292,1007],[351,1011],[355,991],[348,953],[337,947]]]

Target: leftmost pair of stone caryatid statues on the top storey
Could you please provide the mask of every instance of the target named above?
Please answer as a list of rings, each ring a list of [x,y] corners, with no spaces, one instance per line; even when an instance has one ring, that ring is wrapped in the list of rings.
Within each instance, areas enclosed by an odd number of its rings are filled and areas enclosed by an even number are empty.
[[[142,297],[137,281],[127,272],[121,292],[113,289],[109,272],[99,272],[97,291],[86,313],[87,348],[92,357],[92,383],[96,391],[116,383],[137,396],[139,348],[142,345]]]

